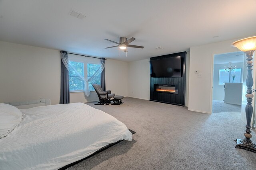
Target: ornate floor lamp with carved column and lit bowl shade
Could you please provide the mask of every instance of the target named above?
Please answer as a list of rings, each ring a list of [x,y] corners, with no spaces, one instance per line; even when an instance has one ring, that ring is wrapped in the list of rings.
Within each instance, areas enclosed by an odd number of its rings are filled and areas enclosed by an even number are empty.
[[[236,139],[236,148],[239,149],[245,149],[248,151],[252,151],[256,153],[256,145],[252,143],[250,138],[252,138],[252,135],[250,134],[251,131],[251,119],[252,119],[252,113],[253,113],[253,107],[252,107],[252,86],[253,86],[253,78],[252,78],[252,56],[254,54],[254,51],[256,50],[256,36],[249,37],[245,39],[238,40],[231,45],[232,47],[237,47],[241,51],[244,51],[247,57],[247,78],[246,78],[246,98],[247,98],[247,105],[245,107],[245,113],[246,113],[246,130],[244,133],[245,138],[244,139]]]

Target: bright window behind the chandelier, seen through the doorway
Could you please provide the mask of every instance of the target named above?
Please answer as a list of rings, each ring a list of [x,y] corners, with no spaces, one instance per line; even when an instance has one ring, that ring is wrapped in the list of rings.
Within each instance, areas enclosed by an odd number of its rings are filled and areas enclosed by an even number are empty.
[[[219,70],[219,85],[224,83],[240,83],[241,82],[241,68],[235,68],[231,72],[225,71],[225,69]],[[230,80],[229,80],[230,76]]]

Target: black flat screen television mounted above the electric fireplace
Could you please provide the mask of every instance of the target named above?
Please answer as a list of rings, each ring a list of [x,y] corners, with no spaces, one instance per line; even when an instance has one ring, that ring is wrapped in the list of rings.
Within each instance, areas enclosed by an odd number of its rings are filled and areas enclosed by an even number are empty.
[[[182,77],[181,57],[151,60],[150,77]]]

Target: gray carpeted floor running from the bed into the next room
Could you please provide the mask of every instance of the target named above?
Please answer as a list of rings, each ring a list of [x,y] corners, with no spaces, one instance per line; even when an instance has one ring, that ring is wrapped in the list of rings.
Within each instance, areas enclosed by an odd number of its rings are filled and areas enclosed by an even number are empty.
[[[236,149],[245,124],[238,110],[204,114],[148,100],[124,98],[121,106],[88,105],[103,110],[136,131],[68,170],[255,170],[256,154]],[[252,141],[256,141],[252,132]],[[256,143],[256,142],[254,142]]]

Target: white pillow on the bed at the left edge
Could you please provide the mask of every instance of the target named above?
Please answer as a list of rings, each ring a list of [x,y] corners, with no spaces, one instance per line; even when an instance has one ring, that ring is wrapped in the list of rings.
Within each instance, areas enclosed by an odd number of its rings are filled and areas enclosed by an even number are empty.
[[[0,103],[0,139],[12,132],[21,119],[22,112],[18,108]]]

